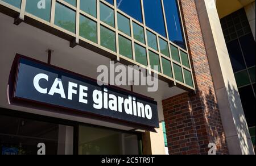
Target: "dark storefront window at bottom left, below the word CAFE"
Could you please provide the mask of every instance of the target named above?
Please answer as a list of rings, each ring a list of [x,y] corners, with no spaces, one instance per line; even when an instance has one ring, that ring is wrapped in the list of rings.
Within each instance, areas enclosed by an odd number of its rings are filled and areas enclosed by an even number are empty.
[[[46,155],[73,154],[73,127],[0,115],[1,155],[36,155],[45,144]]]

